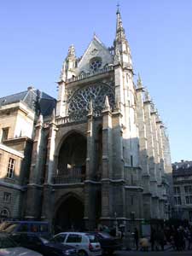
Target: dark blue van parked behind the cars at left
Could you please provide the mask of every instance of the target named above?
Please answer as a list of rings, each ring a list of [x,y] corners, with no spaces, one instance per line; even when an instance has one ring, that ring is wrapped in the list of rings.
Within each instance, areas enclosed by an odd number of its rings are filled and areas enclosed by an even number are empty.
[[[30,232],[40,236],[49,237],[50,227],[46,221],[4,221],[0,224],[0,232],[4,233],[21,233]]]

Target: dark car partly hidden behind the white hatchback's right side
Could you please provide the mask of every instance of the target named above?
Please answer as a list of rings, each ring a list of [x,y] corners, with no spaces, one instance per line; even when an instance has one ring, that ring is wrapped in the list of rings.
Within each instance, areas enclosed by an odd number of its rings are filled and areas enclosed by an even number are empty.
[[[89,232],[94,234],[101,244],[102,252],[112,254],[114,251],[120,250],[122,247],[121,240],[119,238],[110,236],[106,232]]]

